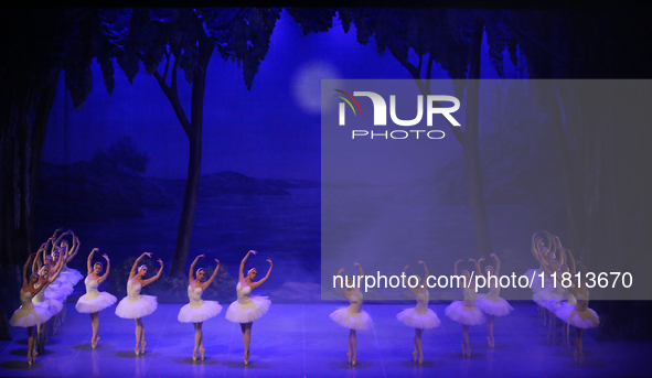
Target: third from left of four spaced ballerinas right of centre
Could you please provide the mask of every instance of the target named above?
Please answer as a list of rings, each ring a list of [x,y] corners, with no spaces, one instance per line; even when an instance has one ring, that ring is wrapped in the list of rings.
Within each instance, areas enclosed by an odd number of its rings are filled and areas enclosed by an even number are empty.
[[[469,261],[475,263],[475,274],[481,274],[480,263],[474,259]],[[462,260],[457,260],[455,263],[455,276],[458,276],[458,263]],[[462,270],[462,279],[458,281],[458,285],[462,284],[463,301],[452,302],[443,313],[450,320],[462,325],[462,355],[471,355],[471,346],[469,345],[469,327],[471,325],[479,325],[484,323],[484,314],[475,306],[475,280],[471,280],[471,274],[468,270]]]

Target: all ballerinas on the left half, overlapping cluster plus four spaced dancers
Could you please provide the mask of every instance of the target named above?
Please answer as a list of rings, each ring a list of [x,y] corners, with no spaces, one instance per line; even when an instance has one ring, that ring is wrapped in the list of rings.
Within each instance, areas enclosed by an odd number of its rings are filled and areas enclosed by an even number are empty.
[[[43,344],[45,343],[45,332],[47,323],[52,322],[65,309],[65,301],[74,289],[73,287],[83,278],[83,276],[74,270],[68,269],[66,263],[77,253],[79,248],[79,240],[72,230],[61,234],[57,229],[52,238],[44,242],[36,253],[32,253],[25,262],[22,271],[22,289],[20,291],[21,306],[13,313],[10,320],[12,326],[20,326],[28,328],[28,364],[32,365],[35,361],[35,356],[43,353]],[[62,240],[63,237],[70,235],[73,237],[73,247],[67,248],[67,241]],[[52,247],[51,247],[52,245]],[[51,250],[47,255],[46,251]],[[97,288],[106,280],[110,270],[110,261],[107,255],[103,255],[106,260],[106,269],[101,262],[93,263],[93,256],[98,251],[94,248],[88,255],[87,259],[87,277],[84,280],[86,285],[86,294],[79,298],[75,309],[81,313],[87,313],[90,316],[90,324],[93,328],[93,336],[90,345],[95,349],[99,341],[99,312],[114,305],[117,299],[107,293],[99,292]],[[43,253],[43,264],[41,264],[39,256]],[[269,262],[269,270],[267,274],[254,281],[258,271],[256,268],[250,268],[247,274],[244,274],[244,268],[250,255],[256,255],[256,251],[249,250],[241,262],[238,283],[236,287],[237,301],[233,302],[226,311],[226,320],[239,323],[243,333],[243,344],[245,347],[244,361],[249,364],[249,344],[252,341],[252,326],[254,321],[260,318],[267,313],[271,302],[267,296],[249,296],[253,289],[259,287],[267,281],[271,272],[271,260]],[[127,296],[124,298],[116,307],[116,315],[122,318],[133,318],[136,322],[136,355],[145,354],[145,326],[142,317],[152,314],[158,306],[157,298],[152,295],[141,295],[140,291],[143,287],[152,283],[161,277],[163,270],[163,261],[158,260],[161,266],[156,276],[145,279],[147,274],[147,266],[138,266],[143,257],[151,257],[151,253],[145,252],[136,259],[129,279],[127,281]],[[197,350],[201,359],[204,359],[205,348],[203,345],[202,324],[209,318],[215,317],[222,312],[222,306],[217,301],[203,301],[202,293],[213,282],[220,268],[220,261],[215,259],[217,267],[215,271],[206,280],[206,270],[199,268],[194,270],[199,259],[204,255],[197,256],[191,264],[189,273],[188,296],[190,303],[181,307],[178,320],[181,323],[193,323],[194,326],[194,349],[192,359],[197,359]],[[32,263],[32,273],[28,277],[28,268],[30,261]],[[104,273],[103,273],[104,270]],[[194,273],[194,277],[193,277]],[[36,332],[34,332],[36,327]]]

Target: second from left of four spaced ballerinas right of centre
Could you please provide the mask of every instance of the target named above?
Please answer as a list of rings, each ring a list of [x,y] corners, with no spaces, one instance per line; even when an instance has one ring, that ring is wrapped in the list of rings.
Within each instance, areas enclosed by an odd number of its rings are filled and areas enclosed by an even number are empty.
[[[407,325],[408,327],[415,328],[415,349],[413,350],[411,355],[414,357],[415,363],[417,361],[418,356],[419,364],[423,364],[424,349],[421,347],[421,334],[424,333],[424,330],[438,327],[441,324],[441,321],[439,320],[439,317],[437,317],[437,314],[432,310],[428,309],[430,293],[428,292],[428,288],[426,287],[426,280],[430,274],[428,273],[428,267],[426,267],[426,263],[424,261],[419,261],[419,263],[424,266],[424,278],[421,279],[419,277],[419,282],[416,288],[408,285],[409,291],[411,291],[413,294],[415,294],[415,296],[417,298],[417,305],[414,309],[403,310],[402,312],[396,314],[396,318],[400,323]],[[403,270],[404,274],[407,270],[407,267],[409,266],[405,266],[405,269]]]

